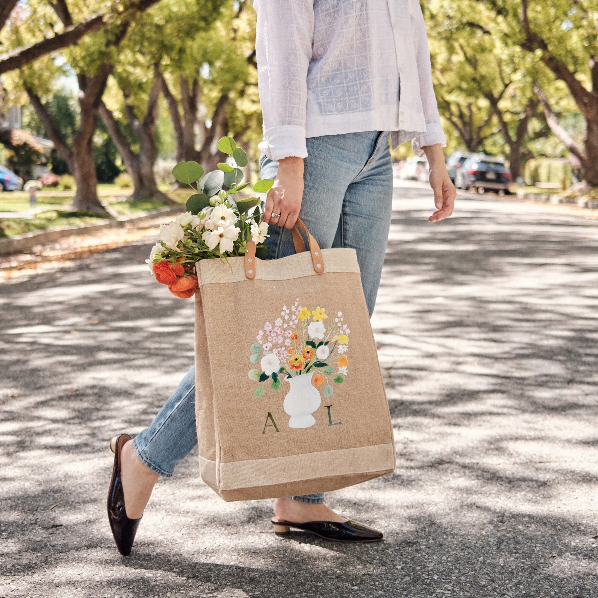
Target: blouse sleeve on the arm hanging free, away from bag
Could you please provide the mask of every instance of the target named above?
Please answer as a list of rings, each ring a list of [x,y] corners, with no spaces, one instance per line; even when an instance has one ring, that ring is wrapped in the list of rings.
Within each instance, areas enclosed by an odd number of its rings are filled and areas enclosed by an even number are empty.
[[[413,23],[420,96],[422,98],[423,115],[426,120],[426,132],[413,139],[412,145],[413,151],[417,155],[422,155],[422,148],[426,147],[426,145],[441,144],[443,147],[446,147],[447,139],[440,123],[440,114],[438,114],[438,104],[434,93],[434,84],[432,83],[432,65],[430,62],[426,23],[423,20],[422,9],[419,6],[419,2],[416,0],[414,4],[416,4],[416,8],[413,11],[414,14],[412,14],[411,18]]]

